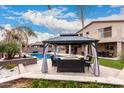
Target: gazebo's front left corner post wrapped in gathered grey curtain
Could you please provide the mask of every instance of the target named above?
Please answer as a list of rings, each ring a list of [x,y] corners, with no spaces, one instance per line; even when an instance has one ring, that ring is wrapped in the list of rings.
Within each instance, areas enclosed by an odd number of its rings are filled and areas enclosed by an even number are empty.
[[[48,72],[47,59],[45,57],[47,46],[48,46],[48,44],[46,44],[46,43],[43,44],[43,62],[42,62],[42,68],[41,68],[42,73]]]

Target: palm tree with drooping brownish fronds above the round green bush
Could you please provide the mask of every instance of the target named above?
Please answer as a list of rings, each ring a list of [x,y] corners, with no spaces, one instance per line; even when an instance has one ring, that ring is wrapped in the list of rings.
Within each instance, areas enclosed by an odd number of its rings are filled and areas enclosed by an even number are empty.
[[[28,37],[37,35],[33,32],[30,27],[27,26],[18,26],[10,30],[6,29],[3,26],[0,26],[0,29],[4,30],[3,36],[6,41],[17,40],[21,44],[20,56],[22,55],[22,50],[28,46]]]

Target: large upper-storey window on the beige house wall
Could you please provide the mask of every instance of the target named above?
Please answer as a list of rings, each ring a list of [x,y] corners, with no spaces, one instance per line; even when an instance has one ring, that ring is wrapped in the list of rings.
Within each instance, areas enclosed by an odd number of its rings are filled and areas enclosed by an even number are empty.
[[[101,28],[98,29],[100,33],[100,37],[106,38],[106,37],[112,37],[112,27],[106,27],[106,28]]]

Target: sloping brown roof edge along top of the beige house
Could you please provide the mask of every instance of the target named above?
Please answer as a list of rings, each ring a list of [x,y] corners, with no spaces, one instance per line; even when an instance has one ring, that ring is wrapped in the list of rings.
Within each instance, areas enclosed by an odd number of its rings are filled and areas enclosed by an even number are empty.
[[[92,21],[91,23],[89,23],[88,25],[86,25],[85,27],[83,27],[81,30],[79,30],[78,32],[76,32],[76,34],[78,34],[79,32],[81,32],[82,30],[84,30],[85,28],[87,28],[88,26],[92,25],[93,23],[108,23],[108,22],[124,22],[124,20],[101,20],[101,21]]]

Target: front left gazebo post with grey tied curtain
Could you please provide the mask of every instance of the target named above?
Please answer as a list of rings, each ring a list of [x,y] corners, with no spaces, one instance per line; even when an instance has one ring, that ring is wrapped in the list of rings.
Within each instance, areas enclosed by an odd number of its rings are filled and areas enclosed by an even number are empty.
[[[43,56],[43,62],[42,62],[42,73],[47,73],[48,72],[48,64],[47,64],[47,59],[46,59],[46,53],[48,51],[48,46],[45,48],[46,46],[44,45],[44,49],[43,49],[43,52],[44,52],[44,56]]]

